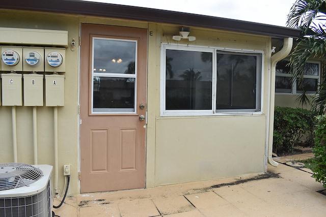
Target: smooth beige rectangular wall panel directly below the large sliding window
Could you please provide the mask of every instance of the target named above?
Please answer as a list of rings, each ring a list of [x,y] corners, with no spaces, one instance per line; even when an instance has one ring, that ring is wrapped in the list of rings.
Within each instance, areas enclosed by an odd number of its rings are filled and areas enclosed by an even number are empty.
[[[263,172],[264,125],[264,116],[158,118],[155,183]]]

